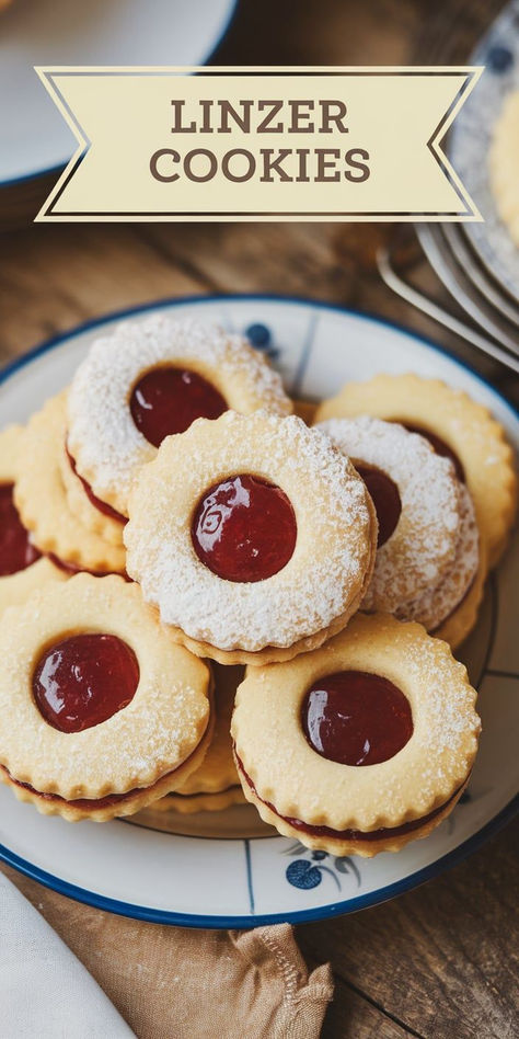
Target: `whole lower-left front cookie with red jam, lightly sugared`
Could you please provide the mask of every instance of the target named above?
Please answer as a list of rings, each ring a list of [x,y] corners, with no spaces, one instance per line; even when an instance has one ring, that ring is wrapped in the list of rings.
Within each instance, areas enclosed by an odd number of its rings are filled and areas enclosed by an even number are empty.
[[[128,815],[185,783],[211,737],[210,672],[140,589],[78,574],[4,614],[0,779],[69,821]]]

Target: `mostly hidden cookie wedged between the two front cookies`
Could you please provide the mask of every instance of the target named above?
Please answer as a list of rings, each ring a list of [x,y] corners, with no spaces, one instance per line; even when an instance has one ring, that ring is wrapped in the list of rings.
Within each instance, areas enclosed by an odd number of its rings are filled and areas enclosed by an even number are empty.
[[[243,804],[245,798],[232,755],[231,716],[237,688],[243,680],[243,667],[212,664],[215,677],[215,731],[209,750],[196,772],[178,787],[153,804],[153,810],[183,814],[216,812],[230,804]]]

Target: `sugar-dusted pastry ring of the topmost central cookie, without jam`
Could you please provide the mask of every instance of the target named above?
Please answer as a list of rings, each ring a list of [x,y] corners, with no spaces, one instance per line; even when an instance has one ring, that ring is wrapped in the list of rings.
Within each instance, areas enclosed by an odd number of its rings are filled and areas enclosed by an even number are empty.
[[[266,581],[233,583],[208,570],[191,516],[208,487],[252,472],[278,484],[298,525],[295,552]],[[125,529],[128,572],[164,623],[224,650],[290,647],[348,610],[362,593],[373,532],[364,482],[327,436],[265,411],[199,419],[169,437],[141,470]]]

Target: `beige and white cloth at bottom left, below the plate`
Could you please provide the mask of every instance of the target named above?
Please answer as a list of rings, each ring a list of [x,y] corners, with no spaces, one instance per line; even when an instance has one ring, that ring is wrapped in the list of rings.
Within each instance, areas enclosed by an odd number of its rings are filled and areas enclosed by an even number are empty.
[[[318,1039],[331,969],[309,973],[288,924],[139,924],[11,876],[79,958],[0,875],[0,1039]]]

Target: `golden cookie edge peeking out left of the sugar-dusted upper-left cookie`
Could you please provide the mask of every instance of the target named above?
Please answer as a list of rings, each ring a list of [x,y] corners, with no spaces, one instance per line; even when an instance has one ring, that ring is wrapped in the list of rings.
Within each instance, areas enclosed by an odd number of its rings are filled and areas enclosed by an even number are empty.
[[[70,511],[60,467],[65,433],[65,395],[60,393],[24,430],[14,489],[16,509],[34,544],[66,568],[123,573],[124,545],[109,545]]]

